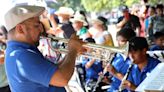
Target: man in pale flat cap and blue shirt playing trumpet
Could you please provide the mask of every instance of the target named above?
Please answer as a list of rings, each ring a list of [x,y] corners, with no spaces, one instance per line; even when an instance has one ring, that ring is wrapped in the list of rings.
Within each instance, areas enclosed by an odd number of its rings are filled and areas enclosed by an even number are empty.
[[[84,43],[74,34],[63,61],[49,62],[37,48],[43,32],[39,16],[44,10],[39,6],[19,5],[4,16],[8,31],[5,68],[12,92],[65,92],[76,56],[83,49]]]

